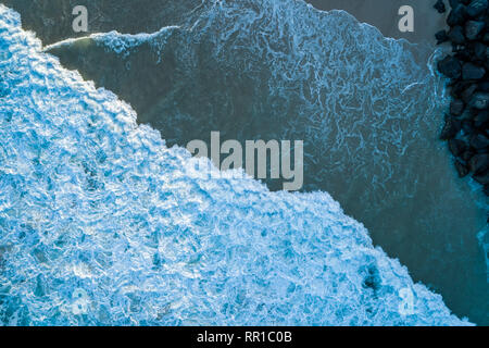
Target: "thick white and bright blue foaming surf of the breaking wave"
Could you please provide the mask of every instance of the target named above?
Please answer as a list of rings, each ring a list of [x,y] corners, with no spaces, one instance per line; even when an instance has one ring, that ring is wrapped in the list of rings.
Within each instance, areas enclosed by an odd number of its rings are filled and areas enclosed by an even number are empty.
[[[328,194],[197,161],[0,5],[0,322],[468,324]]]

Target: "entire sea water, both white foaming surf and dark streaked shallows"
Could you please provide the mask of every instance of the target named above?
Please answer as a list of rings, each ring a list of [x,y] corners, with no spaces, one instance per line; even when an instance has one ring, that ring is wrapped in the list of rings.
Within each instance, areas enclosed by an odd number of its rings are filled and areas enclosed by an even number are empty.
[[[129,101],[139,123],[171,146],[211,130],[241,141],[304,140],[304,190],[331,194],[456,314],[488,322],[486,202],[456,178],[437,142],[447,96],[430,69],[431,47],[386,39],[346,12],[301,1],[181,1],[165,10],[160,22],[145,23],[153,34],[59,44],[63,33],[42,36],[65,66]],[[121,32],[138,25],[130,13],[117,16],[125,16],[114,20]],[[4,315],[34,323],[48,312],[62,323],[455,323],[439,298],[427,309],[432,295],[418,285],[416,314],[399,313],[399,290],[412,287],[406,271],[373,249],[327,194],[189,178],[185,151],[136,127],[112,95],[41,54],[11,12],[2,17],[2,62],[32,79],[2,76],[3,195],[17,192],[5,196],[2,215],[3,276],[15,275],[2,287],[10,294]],[[14,113],[15,105],[26,107]],[[30,262],[13,248],[30,251]],[[75,289],[89,293],[80,293],[90,298],[82,319],[66,309]]]

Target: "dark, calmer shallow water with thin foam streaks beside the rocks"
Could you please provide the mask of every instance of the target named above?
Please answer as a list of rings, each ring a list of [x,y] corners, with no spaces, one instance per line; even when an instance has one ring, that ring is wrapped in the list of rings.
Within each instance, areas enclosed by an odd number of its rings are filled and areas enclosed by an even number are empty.
[[[449,103],[434,70],[441,52],[302,1],[180,3],[168,9],[174,22],[155,12],[165,25],[154,32],[50,37],[45,50],[129,102],[168,146],[212,130],[304,140],[303,190],[330,194],[415,281],[488,324],[487,198],[457,178],[438,140]],[[114,18],[121,30],[133,23]]]

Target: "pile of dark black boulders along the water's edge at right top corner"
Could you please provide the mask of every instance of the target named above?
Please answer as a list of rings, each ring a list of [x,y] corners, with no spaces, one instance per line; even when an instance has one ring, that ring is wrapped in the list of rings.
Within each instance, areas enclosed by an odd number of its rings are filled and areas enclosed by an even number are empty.
[[[449,2],[450,29],[436,34],[438,44],[452,45],[452,53],[438,62],[439,72],[451,79],[452,97],[441,139],[448,140],[459,175],[471,174],[489,196],[489,3]],[[435,9],[447,11],[442,0]]]

